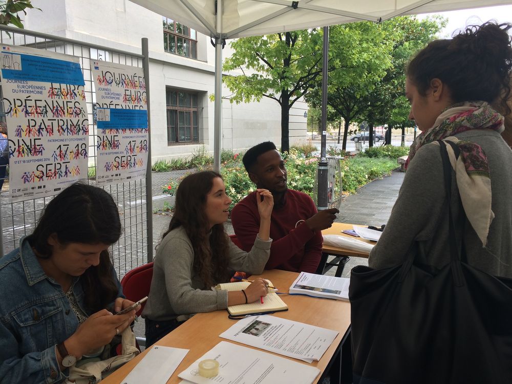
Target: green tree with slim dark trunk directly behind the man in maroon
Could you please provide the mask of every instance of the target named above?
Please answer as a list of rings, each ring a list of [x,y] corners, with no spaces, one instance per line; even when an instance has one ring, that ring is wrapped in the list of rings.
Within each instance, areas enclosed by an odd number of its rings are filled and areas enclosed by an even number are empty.
[[[281,151],[288,151],[289,111],[322,73],[322,33],[317,29],[244,37],[230,43],[233,54],[224,61],[224,83],[230,101],[260,101],[281,105]]]

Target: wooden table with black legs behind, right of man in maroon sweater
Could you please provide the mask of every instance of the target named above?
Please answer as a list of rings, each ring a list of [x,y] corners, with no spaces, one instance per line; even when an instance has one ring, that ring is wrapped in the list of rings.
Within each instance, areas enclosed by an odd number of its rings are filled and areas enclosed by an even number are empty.
[[[345,236],[347,238],[357,239],[362,242],[368,243],[368,244],[375,244],[374,241],[365,240],[362,238],[355,238],[353,236],[350,236],[350,234],[343,233],[342,231],[344,229],[353,229],[354,224],[347,224],[347,223],[332,223],[332,226],[330,228],[324,229],[322,231],[322,235],[325,236],[326,234],[338,234],[339,236]],[[364,225],[358,225],[358,227],[364,227]],[[327,259],[329,255],[336,255],[336,258],[332,262],[327,262]],[[351,249],[347,248],[339,248],[339,247],[333,247],[331,245],[324,245],[322,246],[322,259],[320,260],[321,266],[323,266],[323,270],[317,271],[317,273],[325,273],[327,272],[331,267],[336,267],[336,273],[335,275],[337,277],[342,275],[343,268],[345,266],[345,263],[348,261],[350,256],[355,256],[358,258],[368,258],[369,253],[367,252],[358,252],[353,251]]]

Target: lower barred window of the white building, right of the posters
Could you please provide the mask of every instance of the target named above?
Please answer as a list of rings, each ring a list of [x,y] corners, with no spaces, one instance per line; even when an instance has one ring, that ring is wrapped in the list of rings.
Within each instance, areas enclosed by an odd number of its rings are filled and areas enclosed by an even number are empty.
[[[167,89],[167,144],[203,142],[203,106],[197,93]]]

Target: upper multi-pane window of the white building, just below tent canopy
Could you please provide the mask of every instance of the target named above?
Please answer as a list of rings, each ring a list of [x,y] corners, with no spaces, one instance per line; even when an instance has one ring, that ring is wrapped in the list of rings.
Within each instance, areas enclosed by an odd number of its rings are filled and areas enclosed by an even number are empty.
[[[163,17],[163,49],[165,52],[197,59],[196,30]]]

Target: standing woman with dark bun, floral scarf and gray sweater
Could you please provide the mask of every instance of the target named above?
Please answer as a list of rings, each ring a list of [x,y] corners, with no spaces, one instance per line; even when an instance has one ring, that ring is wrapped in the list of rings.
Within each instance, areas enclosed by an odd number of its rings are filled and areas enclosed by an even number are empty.
[[[466,225],[456,228],[457,241],[464,241],[468,264],[512,278],[512,152],[500,135],[503,116],[491,106],[510,112],[511,28],[491,22],[468,27],[453,39],[430,42],[409,63],[409,118],[422,132],[411,145],[406,176],[370,253],[370,267],[401,264],[414,242],[419,263],[441,268],[450,261],[443,167],[435,142],[450,137],[463,160],[452,171],[451,205],[455,218],[461,209],[467,216]]]

